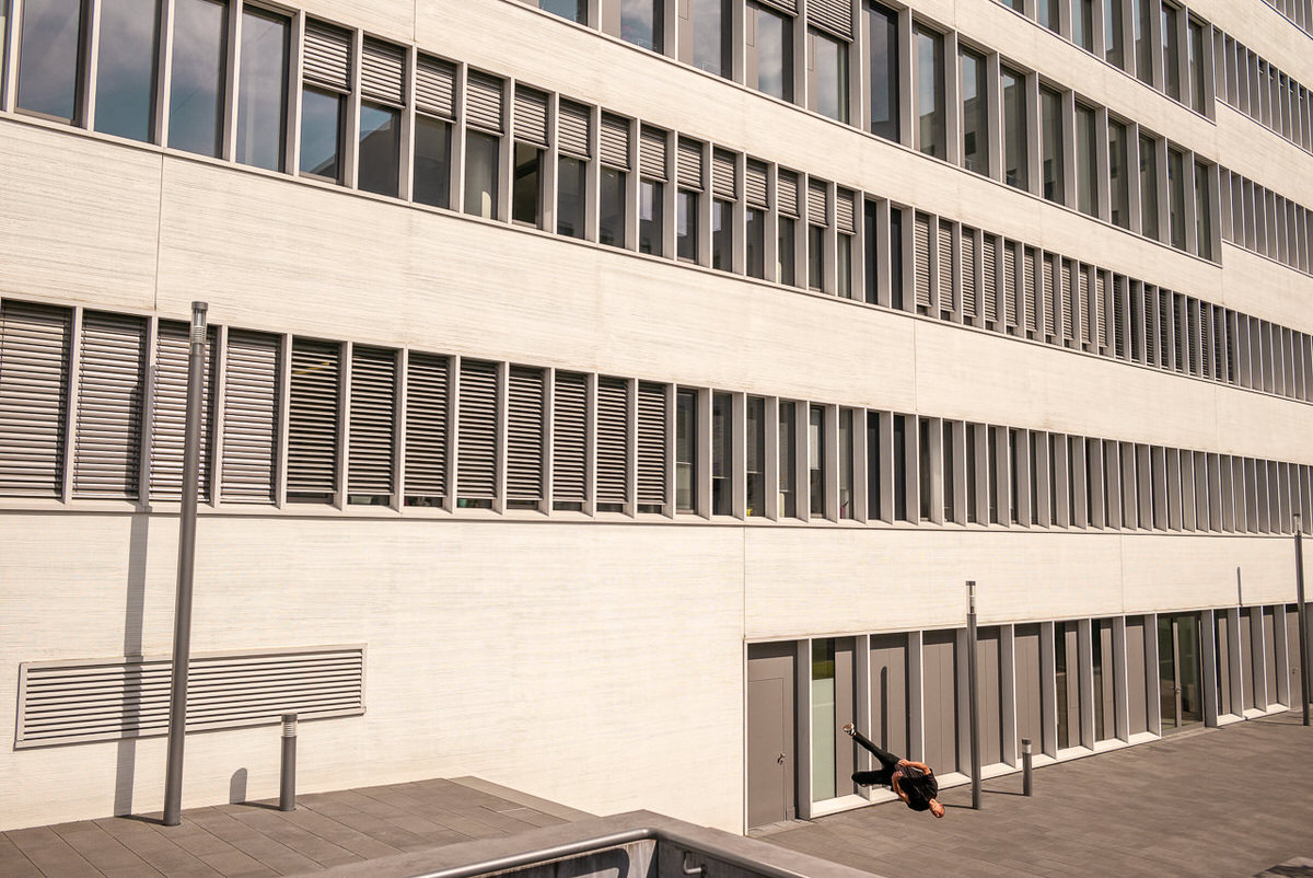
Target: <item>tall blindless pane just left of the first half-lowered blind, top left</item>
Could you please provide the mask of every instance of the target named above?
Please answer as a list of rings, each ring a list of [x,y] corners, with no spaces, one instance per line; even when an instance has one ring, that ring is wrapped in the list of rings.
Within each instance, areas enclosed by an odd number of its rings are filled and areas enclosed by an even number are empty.
[[[242,12],[236,160],[282,170],[288,108],[288,20],[247,7]]]

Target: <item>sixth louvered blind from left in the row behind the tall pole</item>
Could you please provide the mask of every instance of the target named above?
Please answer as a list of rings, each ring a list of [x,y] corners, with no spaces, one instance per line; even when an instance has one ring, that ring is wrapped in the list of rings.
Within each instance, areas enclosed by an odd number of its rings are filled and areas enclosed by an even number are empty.
[[[397,351],[352,347],[348,439],[347,493],[351,502],[390,502],[395,490]]]

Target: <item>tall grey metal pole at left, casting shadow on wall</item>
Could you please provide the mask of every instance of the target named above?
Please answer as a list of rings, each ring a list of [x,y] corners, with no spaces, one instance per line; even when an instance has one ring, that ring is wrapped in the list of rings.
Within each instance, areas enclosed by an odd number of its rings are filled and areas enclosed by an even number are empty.
[[[201,474],[201,393],[205,381],[205,302],[192,302],[186,364],[186,432],[183,452],[183,514],[177,535],[177,601],[173,606],[173,683],[168,708],[168,769],[164,825],[183,821],[183,743],[186,729],[186,677],[192,657],[192,573],[196,568],[196,496]]]

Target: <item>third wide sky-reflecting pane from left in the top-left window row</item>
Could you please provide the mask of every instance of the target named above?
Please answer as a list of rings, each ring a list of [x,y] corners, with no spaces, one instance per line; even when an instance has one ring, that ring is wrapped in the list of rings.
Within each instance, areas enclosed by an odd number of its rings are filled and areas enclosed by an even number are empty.
[[[175,0],[168,145],[218,155],[223,131],[227,4]]]

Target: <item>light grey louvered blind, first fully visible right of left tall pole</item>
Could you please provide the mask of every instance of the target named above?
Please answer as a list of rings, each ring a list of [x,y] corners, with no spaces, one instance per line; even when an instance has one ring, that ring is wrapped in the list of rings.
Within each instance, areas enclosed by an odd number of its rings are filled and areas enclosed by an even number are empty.
[[[226,503],[274,501],[281,351],[277,335],[228,330],[219,490]]]

